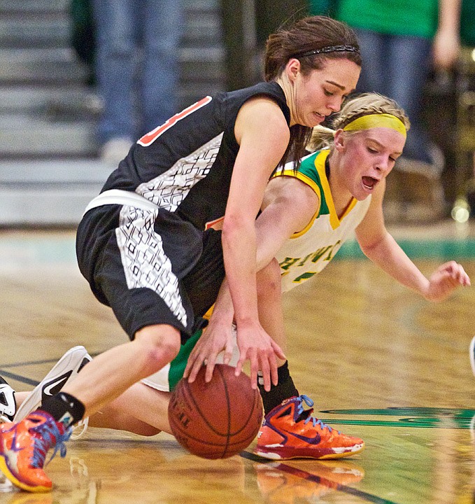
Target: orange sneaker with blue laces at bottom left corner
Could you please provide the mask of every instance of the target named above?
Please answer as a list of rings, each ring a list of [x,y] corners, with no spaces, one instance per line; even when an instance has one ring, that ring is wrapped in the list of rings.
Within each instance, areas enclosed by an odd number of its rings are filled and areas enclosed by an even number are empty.
[[[52,482],[43,465],[48,450],[55,448],[66,455],[64,442],[69,440],[71,428],[57,422],[46,412],[36,410],[18,423],[0,425],[0,469],[20,489],[50,491]]]

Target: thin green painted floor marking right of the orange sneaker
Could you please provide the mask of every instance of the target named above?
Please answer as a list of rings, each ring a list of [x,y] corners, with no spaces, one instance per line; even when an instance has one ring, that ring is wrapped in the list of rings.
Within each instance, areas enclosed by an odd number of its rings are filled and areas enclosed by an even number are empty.
[[[337,425],[468,429],[475,416],[475,409],[390,407],[385,409],[327,409],[320,413],[404,417],[397,420],[322,419],[325,423]]]

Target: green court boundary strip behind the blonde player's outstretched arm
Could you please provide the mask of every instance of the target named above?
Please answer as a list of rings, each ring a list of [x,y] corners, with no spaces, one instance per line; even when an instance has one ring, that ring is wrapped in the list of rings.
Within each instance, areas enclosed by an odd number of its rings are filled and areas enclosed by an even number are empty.
[[[475,239],[398,239],[397,243],[411,259],[474,259]],[[362,259],[364,254],[355,240],[346,241],[336,259]]]

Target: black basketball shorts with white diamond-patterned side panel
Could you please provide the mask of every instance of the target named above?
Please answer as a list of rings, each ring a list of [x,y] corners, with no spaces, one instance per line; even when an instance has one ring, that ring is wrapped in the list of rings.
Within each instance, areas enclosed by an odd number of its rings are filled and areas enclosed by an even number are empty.
[[[130,339],[147,325],[169,324],[185,342],[225,277],[221,232],[197,230],[158,208],[111,204],[88,211],[76,254],[92,292]]]

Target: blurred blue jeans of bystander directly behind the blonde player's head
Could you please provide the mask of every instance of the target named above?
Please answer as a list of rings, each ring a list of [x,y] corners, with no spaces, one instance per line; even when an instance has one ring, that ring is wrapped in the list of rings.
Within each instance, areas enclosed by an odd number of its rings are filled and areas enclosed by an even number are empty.
[[[429,137],[420,120],[423,88],[430,71],[432,41],[416,36],[356,30],[362,55],[358,91],[395,99],[411,120],[404,157],[430,163]]]

